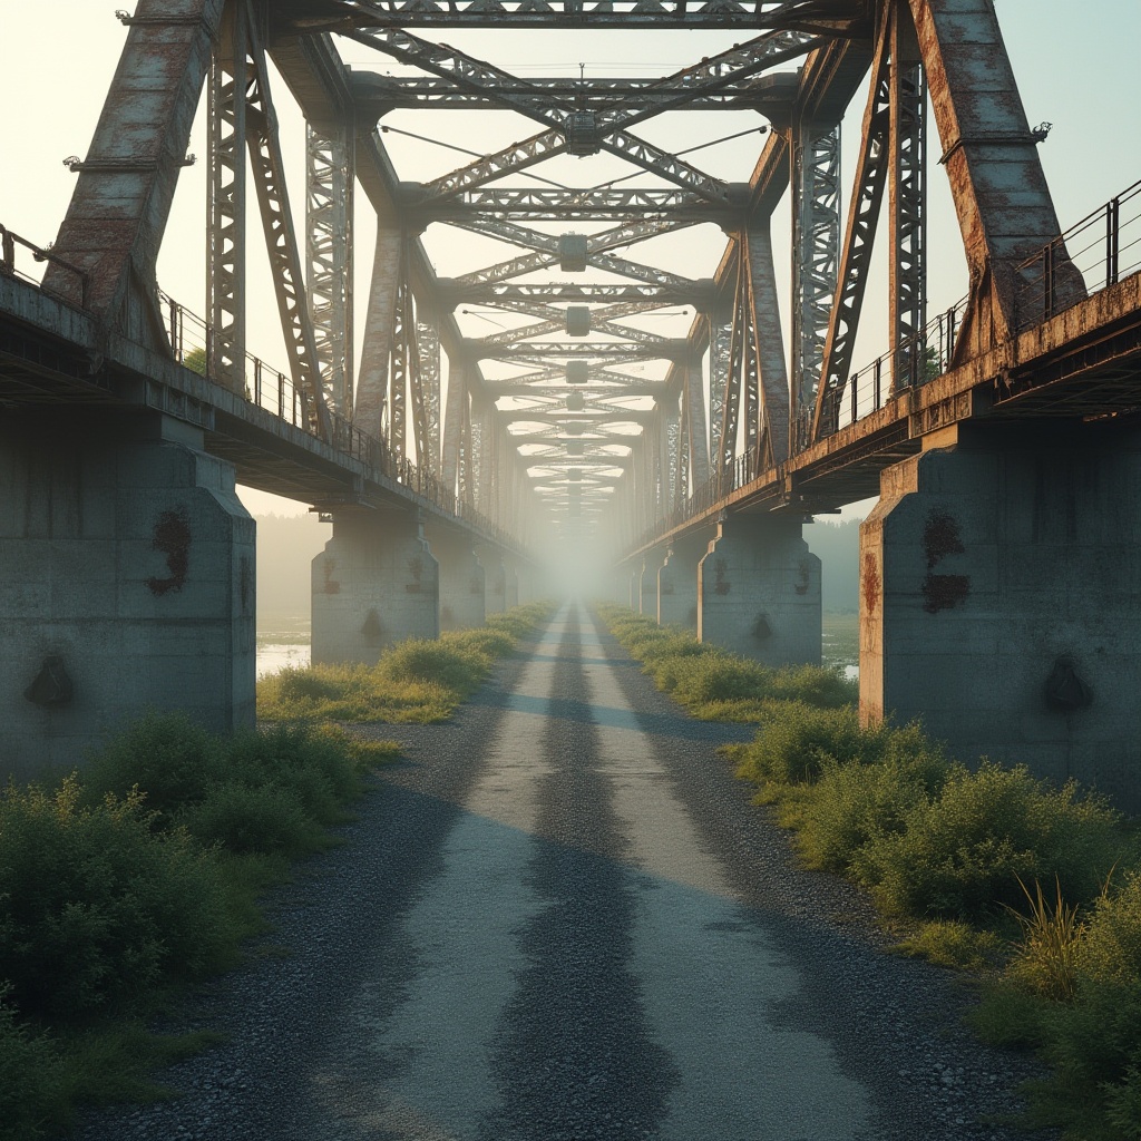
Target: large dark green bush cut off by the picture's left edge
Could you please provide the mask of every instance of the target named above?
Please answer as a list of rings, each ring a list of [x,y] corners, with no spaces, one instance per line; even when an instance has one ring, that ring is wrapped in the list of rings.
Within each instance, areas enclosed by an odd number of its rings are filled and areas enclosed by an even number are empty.
[[[78,779],[0,799],[0,978],[27,1015],[59,1023],[129,1005],[230,949],[213,857],[156,835],[138,793],[83,807]]]

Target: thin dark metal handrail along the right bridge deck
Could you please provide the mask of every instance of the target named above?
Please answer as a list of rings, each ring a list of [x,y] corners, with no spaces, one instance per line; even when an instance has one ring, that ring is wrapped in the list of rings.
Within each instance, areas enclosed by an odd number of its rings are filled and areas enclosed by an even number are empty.
[[[1084,244],[1073,249],[1077,238],[1084,238]],[[1082,275],[1090,294],[1108,289],[1141,269],[1141,179],[1019,265],[1023,285],[1014,305],[1018,332],[1049,321],[1079,304],[1081,298],[1065,300],[1058,290],[1058,274],[1065,265],[1071,266]],[[942,375],[955,351],[966,302],[968,298],[962,298],[949,309],[932,317],[914,337],[900,341],[869,365],[852,373],[841,388],[834,389],[831,406],[825,410],[827,434],[834,434],[877,412],[892,393],[904,388],[919,388]],[[795,424],[798,451],[810,445],[809,431],[809,420],[799,420]],[[634,541],[634,549],[650,545],[674,527],[709,511],[720,500],[751,484],[760,475],[760,463],[753,453],[738,456],[731,466],[714,474],[689,499],[642,532]]]

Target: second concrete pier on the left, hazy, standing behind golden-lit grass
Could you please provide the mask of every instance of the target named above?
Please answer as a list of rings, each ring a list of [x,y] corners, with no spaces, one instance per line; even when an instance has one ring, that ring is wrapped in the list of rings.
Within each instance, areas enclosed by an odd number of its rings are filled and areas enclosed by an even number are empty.
[[[406,638],[439,637],[439,570],[413,512],[338,511],[313,560],[313,661],[375,664]]]

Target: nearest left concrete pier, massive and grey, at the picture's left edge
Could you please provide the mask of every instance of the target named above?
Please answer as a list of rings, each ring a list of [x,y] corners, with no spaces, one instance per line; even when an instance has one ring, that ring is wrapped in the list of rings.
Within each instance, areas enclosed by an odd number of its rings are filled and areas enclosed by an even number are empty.
[[[0,420],[0,778],[147,707],[253,725],[254,525],[202,444],[155,413]]]

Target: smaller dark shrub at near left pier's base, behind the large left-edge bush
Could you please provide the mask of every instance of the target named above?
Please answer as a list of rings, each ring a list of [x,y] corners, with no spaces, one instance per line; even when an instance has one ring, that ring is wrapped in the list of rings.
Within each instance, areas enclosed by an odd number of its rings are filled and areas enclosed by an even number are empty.
[[[98,803],[107,793],[122,800],[138,786],[165,826],[172,810],[201,801],[224,768],[217,737],[185,713],[151,710],[90,758],[83,787],[88,802]]]

